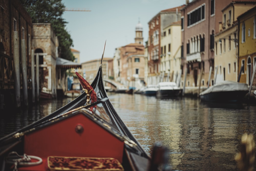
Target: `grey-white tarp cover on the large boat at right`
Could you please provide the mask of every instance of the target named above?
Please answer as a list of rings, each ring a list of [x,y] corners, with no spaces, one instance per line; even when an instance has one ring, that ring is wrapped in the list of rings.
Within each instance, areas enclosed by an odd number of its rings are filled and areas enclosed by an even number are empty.
[[[216,83],[214,86],[209,87],[205,91],[201,92],[199,95],[220,91],[248,91],[248,84],[235,81],[222,81]]]

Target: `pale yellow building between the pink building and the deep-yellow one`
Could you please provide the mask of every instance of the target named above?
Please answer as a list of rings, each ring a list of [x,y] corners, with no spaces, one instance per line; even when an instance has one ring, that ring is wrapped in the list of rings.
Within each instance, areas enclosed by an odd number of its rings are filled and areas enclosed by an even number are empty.
[[[215,35],[214,71],[216,82],[237,81],[238,68],[238,21],[237,17],[253,7],[252,2],[231,2],[222,11],[222,22]]]

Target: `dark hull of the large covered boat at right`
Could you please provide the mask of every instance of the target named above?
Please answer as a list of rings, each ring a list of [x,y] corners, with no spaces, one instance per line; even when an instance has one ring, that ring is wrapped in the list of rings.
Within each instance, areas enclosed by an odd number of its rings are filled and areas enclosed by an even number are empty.
[[[219,91],[200,95],[202,101],[208,102],[239,102],[248,91]]]

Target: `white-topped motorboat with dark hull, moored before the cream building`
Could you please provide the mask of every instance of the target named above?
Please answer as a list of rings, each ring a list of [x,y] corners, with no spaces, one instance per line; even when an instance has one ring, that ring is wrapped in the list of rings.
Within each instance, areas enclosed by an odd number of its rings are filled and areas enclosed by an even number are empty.
[[[157,98],[173,98],[180,95],[182,89],[177,87],[175,82],[159,82],[158,90],[156,91]]]

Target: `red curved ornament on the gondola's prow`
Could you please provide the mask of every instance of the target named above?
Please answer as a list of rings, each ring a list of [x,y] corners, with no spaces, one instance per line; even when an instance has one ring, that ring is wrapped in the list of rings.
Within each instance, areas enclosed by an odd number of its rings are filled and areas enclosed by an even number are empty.
[[[91,103],[96,102],[97,95],[96,95],[94,89],[92,88],[91,84],[89,82],[87,82],[78,72],[76,72],[76,74],[77,74],[77,77],[78,77],[82,87],[88,91],[88,94],[91,95]],[[97,105],[90,107],[89,110],[92,112],[93,108],[96,109],[96,106]]]

